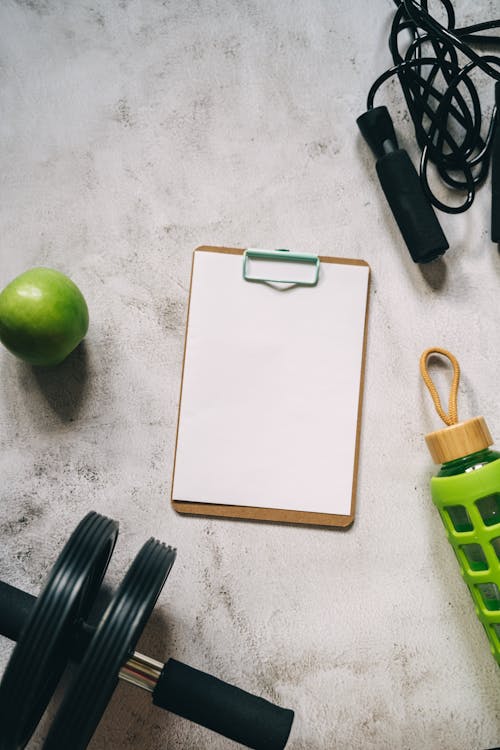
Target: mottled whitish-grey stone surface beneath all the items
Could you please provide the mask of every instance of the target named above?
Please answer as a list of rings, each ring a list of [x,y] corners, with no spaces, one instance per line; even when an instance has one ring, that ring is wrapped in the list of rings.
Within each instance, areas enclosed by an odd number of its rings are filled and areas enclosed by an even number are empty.
[[[496,5],[457,0],[459,24]],[[422,436],[438,420],[417,367],[426,346],[451,348],[464,370],[461,413],[484,413],[498,437],[499,254],[487,186],[466,216],[442,218],[451,250],[441,263],[414,266],[395,229],[355,126],[389,64],[391,9],[0,7],[0,285],[53,266],[91,312],[85,344],[57,370],[0,352],[1,576],[36,593],[89,509],[121,524],[110,586],[151,534],[177,546],[143,650],[295,708],[290,750],[500,743],[498,667],[429,496]],[[492,86],[483,94],[491,108]],[[411,148],[397,87],[378,101]],[[349,531],[171,510],[191,251],[203,243],[371,264]],[[10,651],[2,639],[0,670]],[[121,685],[91,747],[234,744]]]

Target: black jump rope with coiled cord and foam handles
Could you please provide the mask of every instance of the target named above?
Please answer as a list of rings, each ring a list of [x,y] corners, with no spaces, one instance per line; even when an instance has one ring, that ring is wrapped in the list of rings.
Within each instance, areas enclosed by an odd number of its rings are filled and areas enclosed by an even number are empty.
[[[492,164],[491,238],[500,242],[500,56],[479,50],[500,47],[500,19],[457,27],[450,0],[394,0],[389,34],[394,65],[373,83],[359,128],[377,157],[377,172],[412,258],[425,263],[449,247],[433,206],[449,214],[472,205]],[[437,19],[439,16],[441,21]],[[486,117],[474,79],[496,81],[495,100]],[[420,149],[417,174],[398,147],[386,107],[374,106],[379,89],[396,77]],[[429,184],[433,165],[442,183],[463,197],[444,202]]]

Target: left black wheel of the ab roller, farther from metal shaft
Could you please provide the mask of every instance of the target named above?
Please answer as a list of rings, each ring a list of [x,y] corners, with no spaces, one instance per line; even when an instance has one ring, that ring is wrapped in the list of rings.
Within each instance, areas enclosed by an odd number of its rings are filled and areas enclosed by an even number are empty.
[[[56,560],[0,683],[0,750],[26,746],[67,664],[75,625],[88,614],[118,524],[89,513]]]

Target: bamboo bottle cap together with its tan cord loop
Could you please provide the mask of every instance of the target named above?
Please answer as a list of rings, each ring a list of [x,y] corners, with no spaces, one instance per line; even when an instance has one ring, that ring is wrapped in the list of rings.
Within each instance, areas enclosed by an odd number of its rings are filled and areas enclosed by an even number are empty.
[[[453,382],[448,401],[448,412],[445,412],[443,409],[437,388],[427,371],[427,358],[431,354],[439,354],[446,357],[453,365]],[[477,453],[477,451],[489,448],[493,444],[493,439],[484,421],[484,417],[474,417],[465,422],[458,421],[457,394],[460,380],[460,366],[457,358],[446,349],[438,347],[426,349],[420,357],[420,372],[432,396],[437,413],[443,422],[448,425],[441,430],[430,432],[425,436],[425,442],[433,461],[437,464],[444,464],[447,461],[463,458],[471,453]]]

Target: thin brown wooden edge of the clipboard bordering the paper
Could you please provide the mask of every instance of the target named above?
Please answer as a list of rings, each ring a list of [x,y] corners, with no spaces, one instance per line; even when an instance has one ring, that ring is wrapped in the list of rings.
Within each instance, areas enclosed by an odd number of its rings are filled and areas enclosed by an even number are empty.
[[[170,484],[170,503],[175,511],[186,515],[196,516],[219,516],[224,518],[240,518],[246,520],[255,521],[276,521],[280,523],[294,523],[294,524],[307,524],[312,526],[332,526],[337,528],[347,528],[354,522],[356,512],[356,492],[358,485],[358,468],[359,468],[359,443],[361,437],[361,417],[362,417],[362,404],[363,404],[363,391],[365,381],[365,360],[366,360],[366,339],[367,339],[367,328],[368,328],[368,300],[370,290],[370,277],[371,269],[369,264],[364,260],[357,260],[354,258],[336,258],[331,256],[318,256],[322,263],[337,263],[350,266],[364,266],[368,268],[368,283],[366,285],[366,305],[365,305],[365,325],[363,330],[363,352],[361,359],[361,375],[359,383],[359,397],[358,397],[358,419],[356,423],[356,444],[354,452],[354,469],[353,469],[353,483],[352,483],[352,494],[351,494],[351,509],[348,515],[338,515],[334,513],[315,513],[313,511],[298,511],[298,510],[279,510],[275,508],[260,508],[254,506],[244,505],[218,505],[216,503],[193,503],[186,500],[175,500],[173,496],[174,492],[174,477],[175,477],[175,464],[177,459],[177,446],[179,441],[179,424],[181,418],[181,406],[182,406],[182,387],[184,384],[184,368],[186,365],[186,348],[187,339],[189,332],[189,312],[191,307],[191,290],[193,284],[193,271],[194,261],[196,253],[198,252],[209,252],[209,253],[225,253],[227,255],[243,255],[245,252],[242,248],[237,247],[216,247],[210,245],[200,245],[195,248],[192,253],[191,260],[191,274],[189,279],[189,299],[188,309],[186,316],[186,329],[184,335],[184,352],[182,356],[182,373],[181,373],[181,387],[179,394],[179,408],[177,410],[177,426],[175,432],[175,450],[174,450],[174,461],[172,466],[172,481]]]

